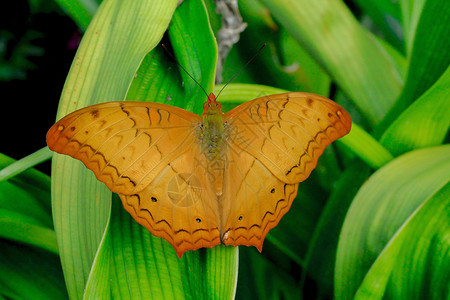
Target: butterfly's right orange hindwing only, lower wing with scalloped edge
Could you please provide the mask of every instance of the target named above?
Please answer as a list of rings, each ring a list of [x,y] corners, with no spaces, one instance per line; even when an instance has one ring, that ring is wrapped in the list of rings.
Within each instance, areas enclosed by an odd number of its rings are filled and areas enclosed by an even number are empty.
[[[248,152],[231,152],[225,175],[222,242],[256,246],[277,226],[297,195],[298,183],[282,182]]]

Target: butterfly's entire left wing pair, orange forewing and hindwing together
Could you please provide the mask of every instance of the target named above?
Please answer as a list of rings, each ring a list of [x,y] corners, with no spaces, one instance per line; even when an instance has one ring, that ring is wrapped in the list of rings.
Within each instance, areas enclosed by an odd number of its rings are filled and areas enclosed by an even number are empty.
[[[47,144],[81,160],[119,194],[137,222],[181,256],[220,242],[217,201],[202,164],[193,160],[205,159],[197,141],[200,122],[196,114],[164,104],[108,102],[58,121]],[[189,191],[183,199],[175,195],[181,189]]]

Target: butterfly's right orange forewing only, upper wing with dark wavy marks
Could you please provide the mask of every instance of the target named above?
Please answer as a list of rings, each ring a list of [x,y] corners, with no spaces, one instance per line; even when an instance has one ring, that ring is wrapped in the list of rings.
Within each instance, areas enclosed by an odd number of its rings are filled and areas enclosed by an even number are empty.
[[[308,93],[257,98],[225,114],[229,143],[263,163],[285,183],[305,180],[326,146],[350,131],[348,113]]]

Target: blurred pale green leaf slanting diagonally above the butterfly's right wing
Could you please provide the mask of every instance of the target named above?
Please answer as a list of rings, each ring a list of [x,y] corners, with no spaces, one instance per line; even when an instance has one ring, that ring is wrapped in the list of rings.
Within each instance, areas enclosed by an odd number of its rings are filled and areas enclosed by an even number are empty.
[[[331,75],[371,125],[400,93],[402,80],[386,50],[340,0],[263,0]]]

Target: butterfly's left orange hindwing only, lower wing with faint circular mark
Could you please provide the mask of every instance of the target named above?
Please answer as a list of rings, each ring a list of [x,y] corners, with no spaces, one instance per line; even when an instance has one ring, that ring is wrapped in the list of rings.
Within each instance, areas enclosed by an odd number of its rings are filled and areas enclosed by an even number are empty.
[[[195,157],[195,159],[193,159]],[[217,196],[198,145],[167,165],[142,191],[120,195],[125,209],[181,257],[220,243]]]

